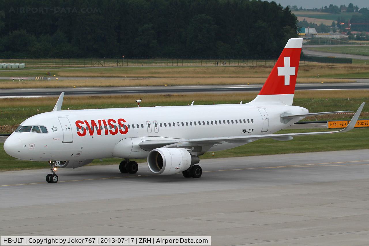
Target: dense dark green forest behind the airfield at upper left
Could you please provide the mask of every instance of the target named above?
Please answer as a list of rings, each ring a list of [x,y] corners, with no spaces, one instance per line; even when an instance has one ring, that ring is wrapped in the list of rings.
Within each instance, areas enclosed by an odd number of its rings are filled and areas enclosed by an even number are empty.
[[[276,57],[296,23],[274,1],[0,0],[0,57]]]

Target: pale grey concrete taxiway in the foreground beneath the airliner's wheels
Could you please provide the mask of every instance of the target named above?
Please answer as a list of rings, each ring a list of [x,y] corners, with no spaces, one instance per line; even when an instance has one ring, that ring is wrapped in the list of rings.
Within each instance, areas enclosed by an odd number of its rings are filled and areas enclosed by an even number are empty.
[[[267,151],[267,149],[266,149]],[[118,163],[118,160],[117,160]],[[0,235],[201,236],[212,245],[366,245],[368,150],[200,161],[199,179],[118,165],[0,172]]]

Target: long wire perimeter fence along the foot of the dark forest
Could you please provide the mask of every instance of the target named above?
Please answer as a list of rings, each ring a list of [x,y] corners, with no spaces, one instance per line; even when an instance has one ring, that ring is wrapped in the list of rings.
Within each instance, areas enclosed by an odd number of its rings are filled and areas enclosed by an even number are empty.
[[[300,64],[309,64],[310,62],[325,62],[324,59],[301,59]],[[25,64],[26,68],[64,68],[64,67],[117,67],[117,66],[273,66],[276,58],[203,58],[203,57],[175,57],[175,58],[16,58],[16,59],[0,59],[1,64]],[[331,58],[330,63],[342,63],[337,59]],[[352,63],[347,62],[347,63]],[[0,66],[1,68],[1,66]],[[3,66],[2,69],[5,68]]]

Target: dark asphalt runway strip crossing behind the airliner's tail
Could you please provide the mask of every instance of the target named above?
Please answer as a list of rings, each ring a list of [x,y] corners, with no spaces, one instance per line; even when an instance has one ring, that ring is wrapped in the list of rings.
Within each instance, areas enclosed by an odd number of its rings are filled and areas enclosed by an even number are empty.
[[[351,83],[303,83],[296,84],[296,90],[341,90],[369,89],[369,80],[361,79]],[[243,92],[260,91],[263,85],[186,85],[186,86],[141,86],[141,87],[81,87],[81,88],[30,88],[1,89],[0,96],[56,96],[61,92],[66,95],[120,95],[146,93],[194,93],[194,92]]]

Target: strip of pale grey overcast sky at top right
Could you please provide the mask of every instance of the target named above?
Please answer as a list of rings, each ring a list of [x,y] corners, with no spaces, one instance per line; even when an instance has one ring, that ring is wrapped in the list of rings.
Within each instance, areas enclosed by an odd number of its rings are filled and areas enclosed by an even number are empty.
[[[268,0],[269,2],[271,0]],[[352,3],[359,8],[369,7],[369,1],[368,0],[274,0],[276,3],[282,4],[282,6],[286,7],[287,5],[297,5],[297,7],[303,7],[303,8],[321,8],[322,6],[329,6],[330,4],[337,5],[338,7],[341,4],[345,4],[348,6],[349,3]]]

